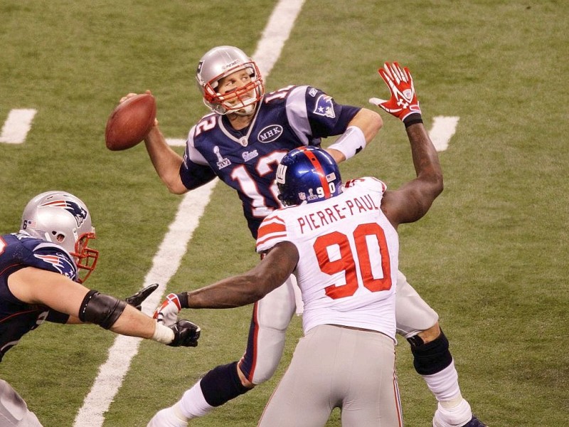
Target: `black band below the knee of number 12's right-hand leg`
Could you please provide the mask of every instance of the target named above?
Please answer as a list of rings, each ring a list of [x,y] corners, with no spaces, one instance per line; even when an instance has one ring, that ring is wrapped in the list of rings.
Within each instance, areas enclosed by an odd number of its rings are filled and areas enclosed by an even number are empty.
[[[413,353],[413,366],[420,375],[436,374],[452,363],[449,340],[442,330],[436,339],[427,344],[424,344],[418,335],[408,339],[408,342]]]

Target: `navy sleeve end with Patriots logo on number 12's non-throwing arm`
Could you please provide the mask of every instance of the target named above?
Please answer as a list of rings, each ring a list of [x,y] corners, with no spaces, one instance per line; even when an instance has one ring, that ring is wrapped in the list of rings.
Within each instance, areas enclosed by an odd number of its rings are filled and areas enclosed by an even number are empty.
[[[314,137],[341,135],[361,107],[343,105],[316,88],[308,87],[306,92],[307,115]]]

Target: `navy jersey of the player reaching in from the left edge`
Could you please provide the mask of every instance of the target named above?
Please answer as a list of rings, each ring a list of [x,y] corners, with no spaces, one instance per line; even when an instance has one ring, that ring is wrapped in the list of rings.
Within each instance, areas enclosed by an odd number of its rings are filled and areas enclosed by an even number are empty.
[[[8,277],[21,268],[35,267],[76,280],[78,269],[65,249],[24,233],[0,236],[0,361],[26,332],[45,320],[65,323],[69,316],[43,305],[21,302],[8,288]]]

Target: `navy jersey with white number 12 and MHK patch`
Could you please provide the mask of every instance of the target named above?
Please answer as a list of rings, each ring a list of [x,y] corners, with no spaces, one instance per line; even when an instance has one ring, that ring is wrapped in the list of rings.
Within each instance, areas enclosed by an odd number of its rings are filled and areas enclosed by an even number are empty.
[[[359,110],[338,104],[311,86],[288,86],[267,93],[243,130],[235,130],[227,117],[211,113],[188,134],[181,180],[194,189],[218,176],[233,187],[257,238],[262,219],[282,207],[275,182],[282,157],[291,149],[318,146],[321,138],[341,135]]]

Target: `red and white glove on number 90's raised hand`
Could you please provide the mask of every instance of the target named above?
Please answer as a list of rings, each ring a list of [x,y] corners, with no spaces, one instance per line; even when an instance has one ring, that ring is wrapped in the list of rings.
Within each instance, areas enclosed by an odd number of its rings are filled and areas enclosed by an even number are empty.
[[[398,117],[402,122],[405,122],[405,119],[412,114],[419,114],[419,116],[414,116],[413,118],[420,120],[421,109],[409,69],[405,67],[402,70],[396,62],[393,64],[385,63],[383,68],[378,70],[378,73],[387,83],[391,97],[389,100],[372,97],[369,102],[383,108],[390,115]]]

